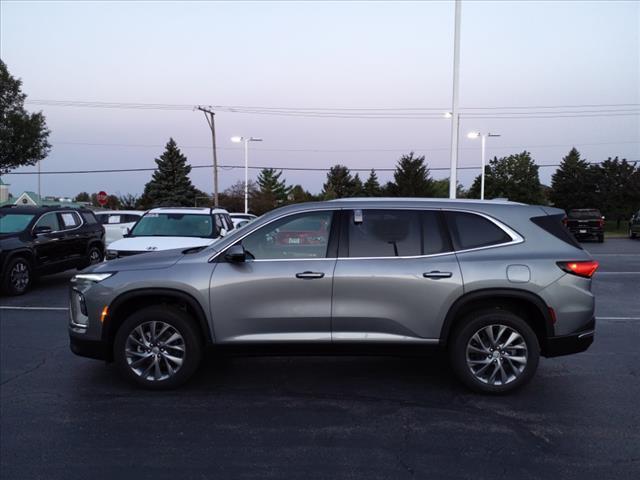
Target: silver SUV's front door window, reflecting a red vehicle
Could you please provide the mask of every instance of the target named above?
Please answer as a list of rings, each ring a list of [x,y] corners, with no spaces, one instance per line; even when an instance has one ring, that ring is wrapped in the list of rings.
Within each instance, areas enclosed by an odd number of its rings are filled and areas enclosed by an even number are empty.
[[[333,212],[291,215],[251,233],[242,246],[256,260],[325,258]]]

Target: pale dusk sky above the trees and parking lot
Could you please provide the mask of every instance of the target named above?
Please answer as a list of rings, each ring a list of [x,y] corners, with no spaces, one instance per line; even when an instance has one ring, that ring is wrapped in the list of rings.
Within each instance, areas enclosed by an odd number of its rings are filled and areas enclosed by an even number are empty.
[[[453,2],[8,2],[1,57],[29,99],[313,108],[451,108]],[[640,104],[640,3],[463,1],[460,106]],[[155,166],[169,137],[190,163],[211,162],[200,112],[27,105],[42,109],[53,149],[42,170]],[[640,120],[622,116],[465,118],[460,165],[479,164],[470,130],[499,133],[488,155],[527,149],[559,163],[576,145],[590,161],[640,160]],[[557,108],[554,111],[566,111]],[[575,110],[575,109],[574,109]],[[523,110],[523,111],[533,111]],[[612,115],[613,113],[613,115]],[[410,150],[449,162],[450,121],[305,118],[221,112],[219,162],[240,165],[232,135],[253,144],[253,165],[392,168]],[[87,145],[89,144],[89,145]],[[93,145],[90,145],[93,144]],[[99,145],[96,145],[99,144]],[[293,150],[293,151],[292,151]],[[329,150],[329,151],[327,151]],[[33,167],[16,172],[34,171]],[[461,170],[468,186],[478,170]],[[541,168],[550,182],[553,168]],[[255,178],[256,171],[251,172]],[[433,170],[435,178],[448,176]],[[43,194],[141,193],[150,172],[43,175]],[[361,173],[367,176],[366,172]],[[212,191],[210,169],[194,184]],[[224,189],[242,170],[221,170]],[[285,172],[320,191],[323,172]],[[380,173],[382,181],[391,173]],[[11,191],[36,190],[8,175]]]

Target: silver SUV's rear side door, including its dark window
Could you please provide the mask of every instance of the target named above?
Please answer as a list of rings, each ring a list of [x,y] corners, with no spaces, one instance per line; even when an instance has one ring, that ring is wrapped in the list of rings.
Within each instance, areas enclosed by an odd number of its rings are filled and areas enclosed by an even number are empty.
[[[463,291],[437,210],[346,211],[334,272],[334,343],[436,343]]]

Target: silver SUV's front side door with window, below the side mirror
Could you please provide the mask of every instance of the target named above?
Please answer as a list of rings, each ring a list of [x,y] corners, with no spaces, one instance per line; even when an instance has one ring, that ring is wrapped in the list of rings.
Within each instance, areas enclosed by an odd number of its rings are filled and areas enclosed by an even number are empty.
[[[218,256],[210,284],[217,342],[331,341],[334,215],[276,219],[236,242],[248,252],[245,262]]]

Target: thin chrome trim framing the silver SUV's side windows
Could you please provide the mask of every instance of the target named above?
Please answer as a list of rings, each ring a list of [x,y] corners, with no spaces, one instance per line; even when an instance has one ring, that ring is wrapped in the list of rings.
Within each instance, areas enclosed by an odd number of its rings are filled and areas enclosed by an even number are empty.
[[[236,240],[235,242],[233,242],[232,244],[228,245],[227,247],[225,247],[223,250],[220,250],[219,252],[214,253],[211,257],[209,257],[208,262],[212,262],[218,255],[224,253],[228,248],[230,248],[232,245],[235,245],[238,241],[242,241],[245,237],[251,235],[253,232],[259,230],[262,227],[266,227],[267,225],[275,222],[276,220],[280,220],[281,218],[284,218],[286,216],[289,215],[298,215],[300,213],[309,213],[309,212],[324,212],[324,211],[331,211],[331,212],[335,212],[335,211],[339,211],[339,210],[357,210],[355,208],[352,207],[340,207],[340,208],[329,208],[329,209],[324,209],[324,208],[316,208],[316,209],[308,209],[308,210],[301,210],[299,212],[293,212],[293,213],[285,213],[282,214],[276,218],[274,218],[273,220],[260,225],[259,227],[251,230],[250,232],[246,233],[245,235],[243,235],[242,237],[240,237],[238,240]],[[480,217],[485,218],[486,220],[489,220],[491,223],[493,223],[495,226],[497,226],[499,229],[501,229],[504,233],[506,233],[509,237],[511,237],[511,241],[509,242],[503,242],[503,243],[496,243],[495,245],[486,245],[484,247],[475,247],[475,248],[467,248],[464,250],[451,250],[448,252],[441,252],[441,253],[430,253],[427,255],[407,255],[407,256],[397,256],[397,257],[324,257],[324,258],[264,258],[264,259],[258,259],[258,260],[250,260],[251,262],[290,262],[290,261],[317,261],[317,260],[390,260],[390,259],[395,259],[395,260],[399,260],[399,259],[420,259],[420,258],[431,258],[431,257],[441,257],[444,255],[452,255],[452,254],[458,254],[458,253],[468,253],[468,252],[476,252],[479,250],[487,250],[489,248],[499,248],[499,247],[507,247],[507,246],[511,246],[511,245],[518,245],[520,243],[524,243],[524,237],[522,237],[522,235],[520,235],[518,232],[516,232],[515,230],[513,230],[511,227],[505,225],[504,223],[502,223],[500,220],[497,220],[485,213],[481,213],[481,212],[476,212],[475,210],[468,210],[468,209],[464,209],[464,208],[424,208],[424,207],[418,207],[418,206],[411,206],[411,207],[374,207],[374,208],[361,208],[360,210],[420,210],[420,211],[436,211],[436,212],[461,212],[461,213],[470,213],[473,215],[478,215]],[[333,227],[333,225],[332,225]],[[448,227],[447,227],[448,228]]]

